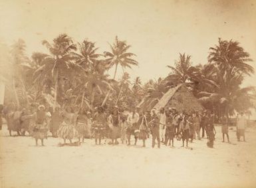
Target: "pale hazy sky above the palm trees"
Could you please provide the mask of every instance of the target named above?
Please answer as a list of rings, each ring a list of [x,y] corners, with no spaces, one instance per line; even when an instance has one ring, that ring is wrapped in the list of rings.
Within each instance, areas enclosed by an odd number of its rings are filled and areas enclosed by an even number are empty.
[[[126,71],[146,82],[167,76],[167,65],[174,65],[179,53],[191,55],[194,65],[207,63],[209,47],[219,37],[241,43],[256,68],[255,18],[255,0],[1,0],[0,41],[11,45],[23,39],[30,56],[47,52],[41,41],[61,33],[75,42],[96,42],[98,52],[110,50],[108,43],[117,35],[132,45],[139,62]],[[255,78],[247,78],[245,85],[256,85]]]

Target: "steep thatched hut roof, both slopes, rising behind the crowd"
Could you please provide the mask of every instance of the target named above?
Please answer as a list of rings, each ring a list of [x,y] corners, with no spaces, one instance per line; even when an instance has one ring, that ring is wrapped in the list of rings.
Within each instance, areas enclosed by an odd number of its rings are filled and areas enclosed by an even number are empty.
[[[176,108],[178,112],[185,110],[186,113],[191,113],[195,110],[201,112],[204,109],[197,98],[183,84],[170,88],[154,108],[156,110],[160,110],[160,108]]]

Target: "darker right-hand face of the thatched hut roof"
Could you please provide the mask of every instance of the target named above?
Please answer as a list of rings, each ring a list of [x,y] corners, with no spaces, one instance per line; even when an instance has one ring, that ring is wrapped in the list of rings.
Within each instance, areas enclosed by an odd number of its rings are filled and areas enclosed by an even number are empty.
[[[185,110],[187,113],[191,113],[193,110],[198,110],[199,112],[203,110],[203,106],[201,106],[197,98],[184,86],[179,88],[171,100],[169,100],[166,108],[169,107],[176,108],[178,112]]]

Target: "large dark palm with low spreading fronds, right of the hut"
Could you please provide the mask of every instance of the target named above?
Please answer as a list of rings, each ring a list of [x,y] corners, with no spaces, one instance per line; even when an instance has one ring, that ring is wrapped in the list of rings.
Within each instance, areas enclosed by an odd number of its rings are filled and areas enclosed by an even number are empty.
[[[251,105],[250,92],[253,87],[241,88],[245,74],[254,72],[249,54],[239,46],[239,43],[219,39],[215,48],[209,48],[209,64],[205,66],[205,76],[211,77],[216,85],[203,88],[201,102],[224,109],[223,113],[232,114],[234,110],[246,110]]]

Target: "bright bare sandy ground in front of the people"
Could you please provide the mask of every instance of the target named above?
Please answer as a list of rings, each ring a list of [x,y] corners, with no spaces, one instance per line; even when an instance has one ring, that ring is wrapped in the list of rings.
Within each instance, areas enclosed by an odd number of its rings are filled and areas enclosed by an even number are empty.
[[[248,128],[246,142],[221,142],[217,129],[215,148],[206,139],[190,143],[193,150],[162,145],[142,148],[126,145],[58,147],[62,140],[48,138],[45,147],[35,146],[29,136],[9,137],[4,125],[0,132],[1,186],[19,187],[256,187],[256,129]]]

